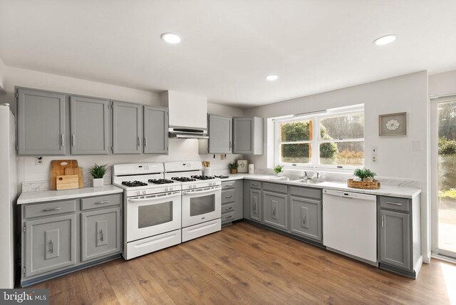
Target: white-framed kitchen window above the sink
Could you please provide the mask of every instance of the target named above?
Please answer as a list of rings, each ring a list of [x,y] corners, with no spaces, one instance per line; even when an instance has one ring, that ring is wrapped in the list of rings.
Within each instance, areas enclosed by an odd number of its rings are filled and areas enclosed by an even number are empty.
[[[364,165],[364,107],[274,118],[274,163],[285,167]]]

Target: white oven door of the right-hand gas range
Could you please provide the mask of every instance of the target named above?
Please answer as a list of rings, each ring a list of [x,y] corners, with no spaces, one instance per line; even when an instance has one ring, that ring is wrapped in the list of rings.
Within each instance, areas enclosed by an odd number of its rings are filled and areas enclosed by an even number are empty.
[[[220,218],[221,210],[222,192],[219,185],[182,191],[182,227]]]

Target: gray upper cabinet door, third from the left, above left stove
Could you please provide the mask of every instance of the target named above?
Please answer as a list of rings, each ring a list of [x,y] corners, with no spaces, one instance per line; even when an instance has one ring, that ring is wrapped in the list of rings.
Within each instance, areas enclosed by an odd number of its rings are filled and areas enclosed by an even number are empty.
[[[141,107],[134,103],[113,101],[113,153],[141,153]]]

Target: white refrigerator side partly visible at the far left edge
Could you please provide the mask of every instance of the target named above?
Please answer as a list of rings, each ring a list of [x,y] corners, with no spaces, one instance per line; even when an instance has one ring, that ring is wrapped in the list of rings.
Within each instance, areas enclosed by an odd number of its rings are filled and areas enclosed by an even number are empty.
[[[0,288],[14,288],[14,202],[17,195],[16,135],[9,105],[0,105]]]

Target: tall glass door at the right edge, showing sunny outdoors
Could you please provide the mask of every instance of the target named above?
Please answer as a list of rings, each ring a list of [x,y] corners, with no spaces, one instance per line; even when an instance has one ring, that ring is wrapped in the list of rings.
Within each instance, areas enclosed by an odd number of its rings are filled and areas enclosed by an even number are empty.
[[[433,106],[432,248],[456,258],[456,97],[437,100]]]

